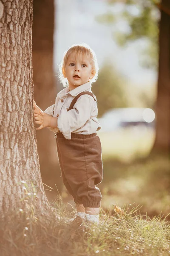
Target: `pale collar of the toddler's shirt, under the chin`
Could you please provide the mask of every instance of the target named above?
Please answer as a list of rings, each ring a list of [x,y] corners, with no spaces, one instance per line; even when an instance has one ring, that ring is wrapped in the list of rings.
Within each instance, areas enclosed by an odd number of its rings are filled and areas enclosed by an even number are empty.
[[[57,96],[59,96],[60,98],[63,96],[68,96],[68,93],[71,96],[77,96],[79,93],[84,92],[85,90],[91,89],[91,82],[87,82],[85,84],[79,85],[77,86],[75,89],[69,91],[69,87],[67,86],[66,88],[64,88],[63,90],[61,90]]]

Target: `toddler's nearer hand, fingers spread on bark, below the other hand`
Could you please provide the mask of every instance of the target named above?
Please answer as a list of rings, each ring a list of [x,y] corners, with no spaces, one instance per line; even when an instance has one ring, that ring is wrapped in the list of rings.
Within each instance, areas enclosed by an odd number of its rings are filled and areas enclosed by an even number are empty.
[[[40,130],[45,127],[50,127],[52,116],[43,111],[39,112],[40,114],[34,113],[34,118],[36,120],[35,123],[40,125],[38,128],[36,128],[36,130]]]

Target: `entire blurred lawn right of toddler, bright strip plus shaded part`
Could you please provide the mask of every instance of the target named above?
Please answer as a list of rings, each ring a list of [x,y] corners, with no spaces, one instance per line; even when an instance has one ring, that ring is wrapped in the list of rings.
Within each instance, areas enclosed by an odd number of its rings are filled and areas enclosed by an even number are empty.
[[[99,189],[102,207],[117,202],[142,205],[142,213],[167,215],[170,212],[170,157],[150,155],[155,139],[151,128],[122,128],[98,132],[102,143],[104,177]]]

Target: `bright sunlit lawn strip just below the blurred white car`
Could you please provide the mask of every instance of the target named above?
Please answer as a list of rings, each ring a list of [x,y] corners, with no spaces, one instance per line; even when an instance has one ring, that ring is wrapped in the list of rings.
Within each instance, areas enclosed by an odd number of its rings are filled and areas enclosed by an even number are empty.
[[[116,159],[124,163],[146,157],[155,139],[152,128],[120,128],[113,132],[98,132],[98,135],[103,160]]]

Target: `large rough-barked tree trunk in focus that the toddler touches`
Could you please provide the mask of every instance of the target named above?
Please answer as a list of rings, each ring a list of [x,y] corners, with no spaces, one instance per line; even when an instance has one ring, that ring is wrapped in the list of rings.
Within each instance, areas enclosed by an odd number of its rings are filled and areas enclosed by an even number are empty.
[[[0,1],[0,215],[21,207],[21,180],[35,180],[37,208],[48,209],[33,112],[32,0]],[[31,196],[31,195],[29,195]]]

